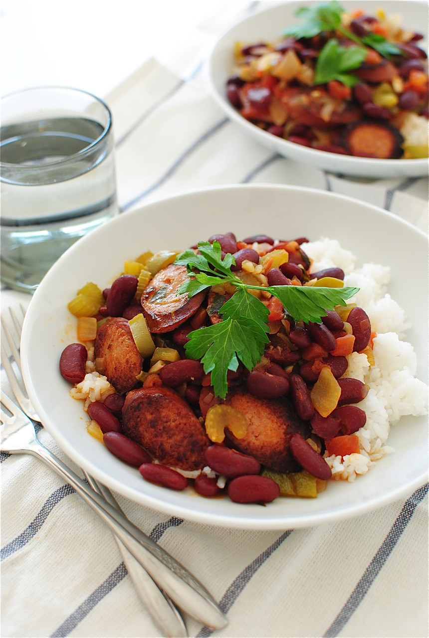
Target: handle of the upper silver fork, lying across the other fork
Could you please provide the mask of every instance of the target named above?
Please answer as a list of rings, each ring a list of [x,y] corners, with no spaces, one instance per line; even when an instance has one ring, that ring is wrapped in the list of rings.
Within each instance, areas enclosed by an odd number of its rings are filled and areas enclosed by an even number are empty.
[[[88,487],[75,472],[45,448],[40,441],[26,448],[25,451],[43,459],[72,485],[79,496],[82,496],[94,512],[103,519],[110,530],[123,542],[126,549],[183,611],[211,629],[220,629],[227,625],[227,618],[214,598],[181,563],[128,521],[100,494]]]

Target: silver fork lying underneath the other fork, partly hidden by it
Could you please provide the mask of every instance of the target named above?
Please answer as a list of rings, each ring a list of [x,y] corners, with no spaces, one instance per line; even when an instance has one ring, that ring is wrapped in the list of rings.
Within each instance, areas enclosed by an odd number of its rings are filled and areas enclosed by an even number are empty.
[[[17,311],[14,311],[12,308],[9,308],[9,313],[14,330],[9,329],[3,316],[1,316],[1,327],[10,348],[11,357],[18,368],[18,373],[15,373],[14,366],[11,364],[9,357],[6,355],[3,347],[3,339],[0,342],[1,362],[20,408],[33,422],[41,424],[40,417],[36,413],[36,410],[34,410],[33,404],[27,396],[20,364],[20,334],[22,332],[22,323],[24,321],[26,311],[22,304],[20,304],[19,311],[18,309]],[[116,500],[110,493],[110,490],[107,489],[107,487],[98,484],[98,482],[85,470],[82,470],[82,472],[84,473],[89,486],[98,494],[101,494],[103,498],[112,505],[112,507],[116,507],[120,512],[122,512]],[[146,605],[146,608],[151,613],[156,625],[162,629],[163,635],[169,638],[185,638],[187,635],[186,626],[184,625],[183,618],[170,598],[165,595],[160,588],[158,588],[156,582],[153,581],[151,576],[134,558],[134,556],[130,554],[123,542],[121,542],[117,536],[114,538],[123,558],[126,570],[135,584],[140,600],[142,600],[142,602]]]

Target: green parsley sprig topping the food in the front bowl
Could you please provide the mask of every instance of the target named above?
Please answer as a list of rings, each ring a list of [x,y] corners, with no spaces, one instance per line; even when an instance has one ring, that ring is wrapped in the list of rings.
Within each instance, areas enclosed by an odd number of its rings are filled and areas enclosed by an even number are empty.
[[[191,275],[179,293],[196,295],[210,286],[230,283],[236,292],[220,308],[222,322],[209,325],[188,334],[186,354],[192,359],[200,359],[204,372],[211,373],[211,383],[216,396],[225,398],[227,394],[227,372],[236,371],[239,362],[250,371],[259,362],[264,346],[269,339],[267,333],[269,311],[266,306],[249,292],[266,290],[282,302],[287,313],[295,321],[320,322],[327,310],[336,305],[345,305],[359,288],[323,288],[313,286],[253,286],[244,283],[231,266],[234,256],[227,253],[222,258],[220,244],[215,241],[199,242],[199,253],[192,249],[177,256],[176,262],[185,265]]]

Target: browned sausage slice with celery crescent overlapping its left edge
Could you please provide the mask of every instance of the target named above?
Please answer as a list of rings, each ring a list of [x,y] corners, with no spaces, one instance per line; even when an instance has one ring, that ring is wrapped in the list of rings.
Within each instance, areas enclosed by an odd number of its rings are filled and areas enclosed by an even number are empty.
[[[301,470],[290,452],[289,441],[295,433],[306,438],[310,429],[297,417],[288,399],[260,399],[246,390],[236,388],[229,390],[225,403],[239,410],[249,420],[244,438],[238,439],[229,430],[226,431],[237,449],[255,457],[271,470]]]

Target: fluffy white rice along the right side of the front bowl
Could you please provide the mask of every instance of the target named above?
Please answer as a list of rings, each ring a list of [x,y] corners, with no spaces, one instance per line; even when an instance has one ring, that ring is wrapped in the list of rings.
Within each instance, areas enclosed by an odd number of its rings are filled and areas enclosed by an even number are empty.
[[[366,263],[356,269],[355,256],[332,239],[303,244],[303,250],[313,260],[312,272],[333,266],[343,269],[344,285],[360,288],[350,302],[365,309],[373,332],[377,332],[373,339],[374,364],[370,366],[365,354],[353,353],[347,357],[349,368],[343,375],[359,379],[368,386],[367,396],[357,404],[366,412],[366,424],[356,433],[360,453],[343,458],[326,457],[333,479],[353,481],[357,475],[370,470],[384,454],[393,452],[386,441],[390,427],[400,417],[427,413],[428,389],[414,376],[414,348],[402,340],[410,323],[403,309],[387,292],[389,267]]]

